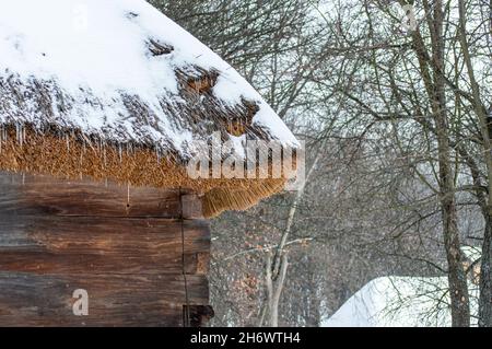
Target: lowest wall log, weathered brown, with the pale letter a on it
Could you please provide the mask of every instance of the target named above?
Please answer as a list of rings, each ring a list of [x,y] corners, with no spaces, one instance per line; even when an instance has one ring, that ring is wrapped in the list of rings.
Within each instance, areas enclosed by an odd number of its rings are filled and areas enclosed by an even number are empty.
[[[187,276],[189,304],[207,304],[208,282]],[[75,289],[89,294],[89,315],[75,316]],[[0,326],[181,326],[183,276],[63,277],[0,272]]]

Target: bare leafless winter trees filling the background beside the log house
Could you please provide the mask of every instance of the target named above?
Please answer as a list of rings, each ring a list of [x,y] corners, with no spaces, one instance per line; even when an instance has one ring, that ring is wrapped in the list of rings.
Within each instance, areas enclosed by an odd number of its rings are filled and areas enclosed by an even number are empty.
[[[306,141],[303,191],[213,221],[214,325],[319,326],[398,275],[447,276],[467,326],[464,245],[482,247],[473,316],[492,325],[490,2],[415,3],[415,28],[406,1],[150,2]]]

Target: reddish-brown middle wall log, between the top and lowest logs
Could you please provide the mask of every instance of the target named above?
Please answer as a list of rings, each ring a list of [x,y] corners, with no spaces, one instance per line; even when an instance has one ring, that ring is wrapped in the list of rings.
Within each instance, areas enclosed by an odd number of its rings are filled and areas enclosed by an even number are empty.
[[[0,213],[0,270],[196,274],[197,254],[210,251],[210,228],[204,220],[185,220],[183,230],[184,240],[177,220]]]

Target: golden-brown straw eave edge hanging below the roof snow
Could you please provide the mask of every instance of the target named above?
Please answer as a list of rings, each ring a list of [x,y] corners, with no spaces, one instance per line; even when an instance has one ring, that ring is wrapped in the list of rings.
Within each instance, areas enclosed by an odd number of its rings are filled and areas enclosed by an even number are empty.
[[[40,132],[12,125],[0,129],[0,171],[192,190],[200,196],[206,218],[247,209],[282,190],[285,183],[283,178],[192,179],[175,159],[148,147],[91,141],[74,131],[55,135],[52,129]]]

